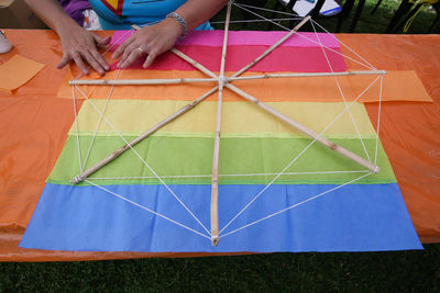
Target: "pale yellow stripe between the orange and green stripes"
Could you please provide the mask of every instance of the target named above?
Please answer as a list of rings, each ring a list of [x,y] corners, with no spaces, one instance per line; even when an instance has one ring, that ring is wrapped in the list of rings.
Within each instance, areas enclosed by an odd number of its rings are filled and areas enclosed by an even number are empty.
[[[91,101],[99,109],[105,108],[105,100]],[[111,100],[105,115],[124,135],[140,135],[186,104],[185,101]],[[345,108],[344,103],[271,102],[266,104],[316,133],[323,131]],[[216,127],[216,108],[217,102],[205,101],[155,135],[212,136]],[[375,132],[363,104],[353,104],[351,112],[362,136],[372,137]],[[86,101],[78,115],[80,134],[94,134],[98,122],[99,114]],[[301,136],[299,132],[249,102],[224,102],[221,128],[222,137]],[[75,125],[69,134],[76,134]],[[356,132],[348,113],[343,114],[327,132],[328,137],[353,137],[353,134]],[[116,135],[116,133],[106,121],[102,121],[98,135]]]

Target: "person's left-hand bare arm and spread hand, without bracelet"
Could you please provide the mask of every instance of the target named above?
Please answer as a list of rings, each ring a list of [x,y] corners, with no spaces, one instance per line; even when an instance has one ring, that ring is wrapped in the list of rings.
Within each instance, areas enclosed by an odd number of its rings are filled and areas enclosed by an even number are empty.
[[[102,38],[80,27],[59,5],[57,0],[25,0],[26,4],[59,36],[63,45],[63,58],[57,68],[74,60],[82,74],[89,64],[100,75],[109,69],[97,46],[106,46],[110,37]]]

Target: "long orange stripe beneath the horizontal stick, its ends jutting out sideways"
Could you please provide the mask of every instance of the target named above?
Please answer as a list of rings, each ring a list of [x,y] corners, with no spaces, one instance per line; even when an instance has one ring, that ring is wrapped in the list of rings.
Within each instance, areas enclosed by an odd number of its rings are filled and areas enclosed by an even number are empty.
[[[264,72],[248,72],[244,76],[261,75]],[[231,76],[233,72],[227,72]],[[116,77],[116,71],[108,72],[107,79]],[[163,78],[206,78],[199,71],[179,70],[122,70],[119,79],[163,79]],[[92,74],[88,79],[99,79]],[[59,88],[59,98],[72,98],[72,89],[67,80]],[[345,76],[338,77],[346,101],[355,100],[376,79],[376,76]],[[264,102],[300,101],[300,102],[341,102],[341,93],[334,78],[284,78],[235,81],[235,86]],[[191,101],[202,95],[213,87],[213,83],[175,84],[175,86],[118,86],[114,88],[113,99],[142,99],[142,100],[184,100]],[[81,89],[95,99],[107,99],[109,86],[81,86]],[[420,80],[414,71],[388,71],[384,78],[383,101],[418,101],[432,102]],[[78,95],[79,97],[79,95]],[[78,98],[77,97],[77,98]],[[212,94],[208,100],[216,100]],[[224,101],[243,101],[238,94],[227,90]],[[376,102],[380,100],[380,82],[376,82],[360,102]]]

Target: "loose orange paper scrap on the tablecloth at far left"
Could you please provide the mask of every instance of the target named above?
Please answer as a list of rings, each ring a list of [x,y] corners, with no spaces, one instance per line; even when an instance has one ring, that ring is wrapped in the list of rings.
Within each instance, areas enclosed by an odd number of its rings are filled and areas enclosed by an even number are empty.
[[[14,55],[0,66],[0,90],[12,93],[31,80],[45,65]]]

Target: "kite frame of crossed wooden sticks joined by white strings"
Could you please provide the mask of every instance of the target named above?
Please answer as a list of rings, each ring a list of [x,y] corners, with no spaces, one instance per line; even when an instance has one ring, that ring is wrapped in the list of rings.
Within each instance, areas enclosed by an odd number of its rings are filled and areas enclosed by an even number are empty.
[[[263,218],[260,218],[255,222],[252,222],[250,224],[246,224],[240,228],[237,228],[232,232],[228,232],[221,235],[221,237],[226,237],[228,235],[231,235],[233,233],[237,233],[241,229],[244,229],[246,227],[250,227],[254,224],[257,224],[264,219],[267,219],[270,217],[273,217],[277,214],[284,213],[286,211],[289,211],[298,205],[301,205],[306,202],[309,202],[311,200],[318,199],[320,196],[323,196],[324,194],[328,194],[332,191],[336,191],[340,188],[343,188],[348,184],[354,183],[372,173],[377,173],[380,171],[380,167],[377,166],[377,149],[378,149],[378,132],[380,132],[380,119],[381,119],[381,104],[382,104],[382,92],[383,92],[383,76],[386,74],[386,71],[384,70],[377,70],[374,67],[372,67],[369,63],[370,66],[370,70],[356,70],[356,71],[345,71],[345,72],[334,72],[331,68],[330,61],[327,57],[327,54],[324,52],[324,47],[322,45],[322,43],[319,40],[318,36],[318,42],[319,45],[322,48],[322,52],[326,56],[327,61],[329,63],[329,67],[331,69],[331,72],[311,72],[311,74],[266,74],[266,75],[261,75],[261,76],[252,76],[252,77],[240,77],[240,75],[242,75],[244,71],[246,71],[248,69],[250,69],[252,66],[254,66],[256,63],[258,63],[260,60],[262,60],[265,56],[267,56],[270,53],[272,53],[275,48],[277,48],[279,45],[282,45],[286,40],[288,40],[292,35],[296,34],[296,32],[306,23],[309,22],[311,23],[315,33],[316,29],[315,29],[315,24],[314,21],[311,20],[310,16],[306,16],[302,19],[302,21],[299,22],[298,25],[296,25],[293,30],[290,30],[290,32],[288,34],[286,34],[283,38],[280,38],[277,43],[275,43],[273,46],[271,46],[267,50],[265,50],[261,56],[258,56],[254,61],[252,61],[251,64],[249,64],[248,66],[243,67],[241,70],[237,71],[232,77],[226,77],[224,76],[224,65],[226,65],[226,59],[227,59],[227,48],[228,48],[228,32],[229,32],[229,23],[230,23],[230,16],[231,16],[231,7],[232,4],[238,5],[239,8],[243,7],[249,7],[249,5],[242,5],[242,4],[237,4],[233,3],[233,1],[229,1],[228,2],[228,8],[227,8],[227,16],[226,16],[226,24],[224,24],[224,36],[223,36],[223,45],[222,45],[222,55],[221,55],[221,68],[220,68],[220,75],[216,76],[212,71],[210,71],[209,69],[205,68],[202,65],[200,65],[199,63],[197,63],[196,60],[194,60],[193,58],[190,58],[189,56],[185,55],[184,53],[182,53],[180,50],[178,50],[177,48],[172,48],[170,52],[174,53],[176,56],[180,57],[182,59],[188,61],[190,65],[193,65],[195,68],[199,69],[201,72],[206,74],[209,78],[205,78],[205,79],[197,79],[197,78],[180,78],[180,79],[148,79],[148,80],[120,80],[118,79],[119,72],[117,75],[117,79],[114,80],[79,80],[79,77],[73,79],[69,81],[69,84],[72,86],[73,89],[73,100],[74,100],[74,111],[75,111],[75,127],[76,127],[76,132],[77,132],[77,140],[78,140],[78,155],[79,155],[79,167],[80,167],[80,174],[78,174],[77,177],[75,177],[72,180],[73,184],[77,184],[81,181],[85,181],[91,185],[95,185],[114,196],[118,196],[124,201],[128,201],[141,209],[144,209],[164,219],[170,221],[172,223],[175,223],[186,229],[189,229],[198,235],[201,235],[206,238],[209,238],[211,240],[212,246],[217,246],[219,244],[220,240],[220,234],[222,232],[224,232],[224,229],[227,227],[230,226],[230,224],[232,222],[234,222],[253,202],[255,202],[263,193],[265,190],[267,190],[282,174],[286,173],[287,169],[311,146],[314,145],[316,142],[321,143],[322,145],[327,146],[328,148],[350,158],[351,160],[354,160],[355,162],[358,162],[359,165],[363,166],[364,168],[366,168],[369,171],[362,171],[365,172],[364,174],[362,174],[361,177],[353,179],[349,182],[345,182],[341,185],[338,185],[333,189],[330,189],[328,191],[321,192],[312,198],[309,198],[302,202],[299,202],[295,205],[288,206],[286,209],[283,209],[274,214],[267,215]],[[253,13],[253,12],[252,12]],[[255,13],[253,13],[255,14]],[[261,15],[258,15],[261,16]],[[263,16],[262,16],[263,18]],[[277,23],[275,23],[277,24]],[[319,25],[319,24],[318,24]],[[134,27],[138,29],[138,27]],[[322,27],[323,29],[323,27]],[[116,42],[117,44],[118,42]],[[341,43],[343,44],[343,43]],[[344,45],[345,46],[345,45]],[[345,46],[346,47],[346,46]],[[328,48],[328,47],[326,47]],[[331,50],[331,48],[328,48]],[[351,49],[350,49],[351,50]],[[353,52],[353,50],[351,50]],[[107,52],[106,52],[107,53]],[[105,54],[106,54],[105,53]],[[353,52],[354,53],[354,52]],[[356,54],[356,56],[359,56]],[[344,56],[345,57],[345,56]],[[361,56],[359,56],[361,57]],[[365,59],[363,59],[361,57],[361,59],[363,61],[366,61]],[[364,65],[365,66],[365,65]],[[338,82],[337,77],[339,76],[349,76],[349,75],[377,75],[378,77],[350,104],[348,104],[343,93],[342,93],[342,89]],[[256,98],[252,97],[251,94],[240,90],[238,87],[231,84],[231,82],[233,81],[239,81],[239,80],[250,80],[250,79],[268,79],[268,78],[296,78],[296,77],[333,77],[337,81],[338,88],[341,92],[341,95],[344,100],[345,103],[345,109],[344,111],[338,115],[336,117],[336,120],[321,133],[316,134],[314,132],[311,132],[310,129],[308,129],[307,127],[305,127],[304,125],[295,122],[294,120],[280,114],[279,112],[277,112],[276,110],[270,108],[268,105],[260,102]],[[322,137],[323,133],[327,132],[327,129],[340,117],[342,116],[342,114],[344,114],[345,112],[350,113],[350,116],[352,117],[353,124],[355,126],[353,116],[350,112],[350,108],[351,105],[353,105],[377,80],[381,80],[381,90],[380,90],[380,108],[378,108],[378,120],[377,120],[377,136],[376,136],[376,150],[375,150],[375,161],[372,162],[370,159],[370,156],[366,151],[366,155],[369,157],[369,160],[363,159],[362,157],[351,153],[350,150],[342,148],[341,146],[338,146],[336,144],[333,144],[332,142]],[[218,84],[216,87],[213,87],[210,91],[208,91],[207,93],[205,93],[204,95],[199,97],[198,99],[194,100],[193,102],[188,103],[187,105],[185,105],[184,108],[182,108],[180,110],[178,110],[176,113],[172,114],[170,116],[166,117],[165,120],[161,121],[158,124],[156,124],[155,126],[153,126],[151,129],[148,129],[147,132],[145,132],[144,134],[142,134],[141,136],[139,136],[138,138],[135,138],[132,142],[127,142],[123,136],[114,128],[114,126],[111,124],[110,121],[108,121],[108,119],[103,115],[103,112],[106,111],[107,104],[108,104],[108,100],[112,94],[113,91],[113,87],[114,86],[120,86],[120,84],[143,84],[143,86],[151,86],[151,84],[176,84],[176,83],[194,83],[194,82],[217,82]],[[90,101],[88,99],[88,97],[80,90],[80,88],[78,88],[78,86],[80,84],[97,84],[97,86],[112,86],[109,97],[107,99],[107,103],[106,106],[103,109],[103,111],[100,111],[94,103],[92,101]],[[223,95],[223,88],[228,88],[229,90],[238,93],[239,95],[241,95],[242,98],[246,99],[248,101],[254,103],[255,105],[260,106],[261,109],[263,109],[264,111],[266,111],[267,113],[272,114],[273,116],[277,117],[278,120],[283,121],[284,123],[286,123],[287,125],[301,131],[302,133],[309,135],[311,138],[314,138],[314,140],[300,153],[298,154],[287,166],[286,168],[283,169],[283,171],[280,173],[277,173],[275,176],[275,178],[256,195],[254,196],[251,202],[249,204],[246,204],[221,230],[219,229],[219,215],[218,215],[218,198],[219,198],[219,193],[218,193],[218,184],[219,184],[219,157],[220,157],[220,136],[221,136],[221,114],[222,114],[222,95]],[[100,161],[99,164],[88,168],[87,170],[82,169],[82,164],[81,164],[81,158],[80,158],[80,149],[79,149],[79,129],[78,129],[78,115],[76,112],[76,95],[75,95],[75,90],[78,90],[81,95],[92,105],[92,108],[101,115],[101,120],[105,120],[112,128],[116,133],[118,133],[118,135],[124,140],[125,145],[122,146],[120,149],[113,151],[110,156],[108,156],[107,158],[105,158],[102,161]],[[206,100],[209,95],[211,95],[212,93],[215,93],[216,91],[218,91],[218,105],[217,105],[217,123],[216,123],[216,133],[215,133],[215,147],[213,147],[213,160],[212,160],[212,176],[211,176],[211,206],[210,206],[210,215],[211,215],[211,227],[210,227],[210,233],[208,232],[207,227],[205,227],[202,225],[202,223],[194,215],[194,213],[185,205],[184,202],[182,202],[182,200],[177,196],[177,194],[175,194],[168,187],[167,184],[163,181],[162,178],[164,177],[160,177],[151,167],[150,165],[136,153],[136,150],[134,150],[133,146],[136,145],[138,143],[142,142],[144,138],[151,136],[152,134],[154,134],[156,131],[158,131],[160,128],[164,127],[165,125],[167,125],[168,123],[170,123],[172,121],[176,120],[177,117],[179,117],[180,115],[187,113],[189,110],[194,109],[197,104],[199,104],[200,102],[202,102],[204,100]],[[99,122],[99,124],[101,123],[101,120]],[[356,126],[355,126],[356,127]],[[99,125],[97,126],[97,131],[99,128]],[[358,129],[356,129],[358,131]],[[97,135],[97,132],[95,133],[95,136]],[[95,137],[94,137],[95,140]],[[94,140],[90,144],[89,150],[88,150],[88,155],[90,153],[90,148],[91,145],[94,144]],[[361,139],[362,140],[362,139]],[[362,143],[363,144],[363,143]],[[142,160],[142,162],[152,171],[152,173],[154,174],[154,178],[157,178],[160,180],[160,182],[176,198],[176,200],[187,210],[187,212],[200,224],[200,226],[208,233],[209,237],[205,234],[199,233],[196,229],[193,229],[188,226],[185,226],[165,215],[162,215],[155,211],[152,211],[145,206],[142,206],[138,203],[134,203],[130,200],[128,200],[127,198],[119,195],[103,187],[100,187],[98,184],[96,184],[95,182],[90,181],[91,178],[89,178],[94,172],[96,172],[97,170],[99,170],[100,168],[102,168],[103,166],[106,166],[108,162],[114,160],[116,158],[118,158],[121,154],[123,154],[125,150],[128,149],[132,149],[136,156]],[[88,156],[87,155],[87,156]],[[86,158],[87,161],[87,158]],[[84,167],[86,165],[86,161],[84,162]],[[355,172],[355,171],[354,171]]]

